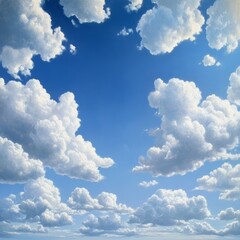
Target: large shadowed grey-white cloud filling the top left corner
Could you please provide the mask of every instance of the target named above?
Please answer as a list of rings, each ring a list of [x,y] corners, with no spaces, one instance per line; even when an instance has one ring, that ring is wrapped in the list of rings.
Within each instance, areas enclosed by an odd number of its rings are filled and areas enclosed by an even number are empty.
[[[50,61],[64,50],[61,29],[52,29],[51,17],[41,0],[0,1],[0,60],[8,73],[30,75],[32,57]]]

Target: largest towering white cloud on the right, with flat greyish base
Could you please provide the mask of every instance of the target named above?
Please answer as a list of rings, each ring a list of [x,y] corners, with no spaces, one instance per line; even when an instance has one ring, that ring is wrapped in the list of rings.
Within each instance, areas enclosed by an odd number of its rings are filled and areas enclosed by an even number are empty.
[[[206,160],[240,157],[232,153],[239,143],[240,112],[228,100],[210,95],[201,101],[193,82],[174,78],[168,83],[157,79],[149,103],[161,125],[154,132],[156,145],[134,171],[172,176],[194,171]]]

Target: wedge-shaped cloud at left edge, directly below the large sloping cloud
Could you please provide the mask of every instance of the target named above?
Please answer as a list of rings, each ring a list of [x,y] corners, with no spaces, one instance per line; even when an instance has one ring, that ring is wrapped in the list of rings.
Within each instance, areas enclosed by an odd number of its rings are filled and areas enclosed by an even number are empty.
[[[45,174],[42,162],[29,158],[19,144],[0,137],[0,182],[23,183]]]

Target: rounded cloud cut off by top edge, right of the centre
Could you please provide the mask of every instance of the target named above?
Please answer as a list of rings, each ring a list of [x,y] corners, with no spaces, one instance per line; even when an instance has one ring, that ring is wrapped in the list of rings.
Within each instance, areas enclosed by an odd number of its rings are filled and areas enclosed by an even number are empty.
[[[151,54],[170,53],[182,41],[195,39],[204,24],[198,10],[200,0],[152,0],[155,6],[148,10],[137,25],[142,41]]]

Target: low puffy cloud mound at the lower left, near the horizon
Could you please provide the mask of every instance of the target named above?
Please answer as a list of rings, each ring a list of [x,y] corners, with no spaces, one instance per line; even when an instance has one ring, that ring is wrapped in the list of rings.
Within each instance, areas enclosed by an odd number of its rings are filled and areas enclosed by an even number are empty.
[[[0,203],[0,222],[35,222],[44,227],[73,222],[70,209],[61,202],[59,189],[45,177],[29,180],[19,196],[10,195]]]

